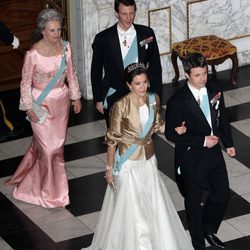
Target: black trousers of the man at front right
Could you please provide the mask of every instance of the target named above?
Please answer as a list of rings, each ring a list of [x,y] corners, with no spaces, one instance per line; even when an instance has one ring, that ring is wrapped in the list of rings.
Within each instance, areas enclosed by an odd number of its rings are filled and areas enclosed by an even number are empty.
[[[230,199],[225,161],[219,145],[190,149],[181,168],[185,209],[195,250],[205,249],[205,233],[217,233]],[[207,193],[204,205],[201,205]]]

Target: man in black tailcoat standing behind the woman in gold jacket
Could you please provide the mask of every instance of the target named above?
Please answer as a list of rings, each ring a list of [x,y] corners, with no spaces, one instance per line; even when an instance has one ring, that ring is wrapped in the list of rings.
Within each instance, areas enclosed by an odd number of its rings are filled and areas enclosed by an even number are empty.
[[[92,92],[96,108],[104,113],[108,125],[109,109],[128,93],[124,68],[134,62],[145,64],[150,91],[162,96],[162,68],[154,31],[134,24],[134,0],[116,0],[114,9],[118,23],[98,33],[92,44]]]

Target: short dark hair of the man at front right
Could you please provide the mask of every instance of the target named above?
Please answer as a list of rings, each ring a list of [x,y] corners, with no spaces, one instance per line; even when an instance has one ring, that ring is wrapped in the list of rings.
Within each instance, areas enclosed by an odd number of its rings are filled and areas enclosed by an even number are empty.
[[[200,53],[191,53],[182,61],[184,71],[190,74],[193,68],[204,68],[207,66],[206,58]]]

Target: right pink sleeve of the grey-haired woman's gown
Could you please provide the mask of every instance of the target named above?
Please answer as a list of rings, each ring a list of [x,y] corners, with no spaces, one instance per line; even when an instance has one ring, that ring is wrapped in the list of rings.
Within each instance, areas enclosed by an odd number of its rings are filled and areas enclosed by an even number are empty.
[[[67,81],[69,84],[69,95],[71,100],[77,100],[81,98],[80,86],[78,83],[76,70],[74,66],[74,59],[70,44],[67,46]]]

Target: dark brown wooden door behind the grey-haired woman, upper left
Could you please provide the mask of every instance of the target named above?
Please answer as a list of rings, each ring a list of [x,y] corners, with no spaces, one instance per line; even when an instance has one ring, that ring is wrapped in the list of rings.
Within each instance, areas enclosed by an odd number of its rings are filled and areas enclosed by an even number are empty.
[[[20,47],[0,44],[0,92],[20,86],[25,52],[30,48],[42,3],[34,0],[1,0],[0,20],[19,38]]]

